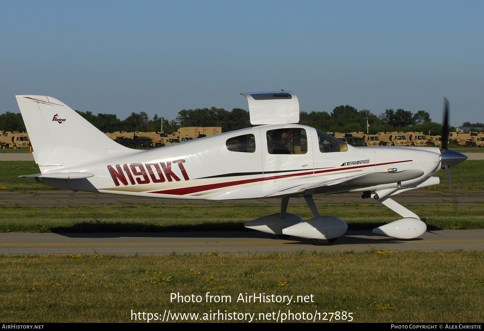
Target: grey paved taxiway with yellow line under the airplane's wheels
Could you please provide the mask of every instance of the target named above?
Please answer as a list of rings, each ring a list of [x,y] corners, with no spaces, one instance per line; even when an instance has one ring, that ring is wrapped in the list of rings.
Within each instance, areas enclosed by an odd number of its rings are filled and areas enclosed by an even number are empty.
[[[332,246],[316,246],[309,240],[273,240],[261,232],[183,232],[183,233],[0,233],[3,255],[164,255],[262,254],[301,252],[452,251],[484,249],[484,230],[428,231],[412,240],[375,236],[371,231],[348,231]]]

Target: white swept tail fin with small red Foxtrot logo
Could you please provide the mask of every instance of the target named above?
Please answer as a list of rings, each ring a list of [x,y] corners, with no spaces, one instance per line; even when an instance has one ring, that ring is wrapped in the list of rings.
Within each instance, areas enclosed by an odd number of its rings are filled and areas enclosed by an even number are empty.
[[[105,158],[113,151],[129,151],[57,99],[44,95],[16,98],[39,166],[68,167]]]

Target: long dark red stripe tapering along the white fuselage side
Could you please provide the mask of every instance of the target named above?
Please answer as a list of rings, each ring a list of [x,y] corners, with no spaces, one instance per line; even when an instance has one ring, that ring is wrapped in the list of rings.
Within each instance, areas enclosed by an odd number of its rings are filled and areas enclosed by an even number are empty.
[[[340,169],[327,169],[327,170],[314,171],[314,173],[319,174],[319,173],[323,173],[323,172],[341,171],[341,170],[356,169],[356,168],[365,168],[365,167],[377,166],[377,165],[391,165],[391,164],[395,164],[395,163],[411,162],[411,161],[412,160],[378,163],[378,164],[375,164],[375,165],[349,166],[349,167],[340,168]],[[208,190],[218,189],[218,188],[227,187],[227,186],[236,186],[236,185],[254,183],[254,182],[257,182],[257,181],[271,181],[271,180],[274,180],[274,179],[304,176],[304,175],[312,175],[312,174],[313,174],[312,171],[311,172],[302,172],[302,173],[298,173],[298,174],[287,174],[287,175],[279,175],[279,176],[273,176],[273,177],[253,178],[253,179],[241,180],[241,181],[227,181],[227,182],[223,182],[223,183],[206,184],[206,185],[198,185],[198,186],[190,186],[190,187],[181,187],[181,188],[176,188],[176,189],[153,191],[153,192],[150,192],[150,193],[183,196],[183,195],[186,195],[186,194],[208,191]]]

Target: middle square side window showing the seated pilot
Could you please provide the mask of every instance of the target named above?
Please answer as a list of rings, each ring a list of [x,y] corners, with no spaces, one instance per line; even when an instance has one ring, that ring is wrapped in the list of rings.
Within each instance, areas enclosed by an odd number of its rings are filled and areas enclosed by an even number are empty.
[[[267,131],[267,151],[269,154],[306,154],[306,130],[288,128]]]

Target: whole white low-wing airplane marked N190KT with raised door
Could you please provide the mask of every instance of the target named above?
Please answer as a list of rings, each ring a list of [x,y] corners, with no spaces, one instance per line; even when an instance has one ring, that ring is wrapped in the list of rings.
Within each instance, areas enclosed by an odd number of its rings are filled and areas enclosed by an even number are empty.
[[[361,192],[403,218],[373,230],[416,238],[425,223],[390,197],[439,183],[436,172],[467,157],[430,147],[353,147],[299,122],[291,92],[241,93],[254,126],[153,150],[132,150],[111,140],[61,101],[17,95],[17,103],[46,185],[73,191],[172,199],[281,198],[281,212],[245,226],[276,239],[297,236],[333,243],[348,226],[320,216],[313,195]],[[447,108],[447,107],[446,107]],[[444,124],[448,111],[445,111]],[[445,130],[445,129],[444,129]],[[448,131],[448,130],[447,130]],[[448,134],[448,133],[447,133]],[[444,136],[444,133],[443,135]],[[443,137],[442,142],[446,141]],[[287,213],[291,196],[303,196],[314,218]]]

